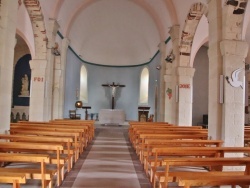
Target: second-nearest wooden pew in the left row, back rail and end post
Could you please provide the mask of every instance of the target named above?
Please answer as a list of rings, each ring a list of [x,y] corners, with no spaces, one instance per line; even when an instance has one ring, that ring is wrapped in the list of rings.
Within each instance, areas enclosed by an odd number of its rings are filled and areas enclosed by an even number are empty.
[[[46,178],[45,178],[45,174],[47,171],[45,163],[50,164],[50,156],[49,155],[23,154],[23,153],[0,153],[0,161],[2,161],[2,162],[40,163],[42,188],[46,188],[49,184],[51,184],[51,181],[46,180]],[[36,169],[36,171],[37,171],[37,169]],[[23,174],[23,172],[21,172],[21,173]]]

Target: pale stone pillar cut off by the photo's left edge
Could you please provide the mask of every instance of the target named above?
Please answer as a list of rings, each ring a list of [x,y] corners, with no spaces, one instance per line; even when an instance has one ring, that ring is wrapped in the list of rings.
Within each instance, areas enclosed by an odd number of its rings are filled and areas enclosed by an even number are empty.
[[[1,0],[0,9],[0,132],[9,130],[14,48],[16,45],[16,20],[18,1]]]

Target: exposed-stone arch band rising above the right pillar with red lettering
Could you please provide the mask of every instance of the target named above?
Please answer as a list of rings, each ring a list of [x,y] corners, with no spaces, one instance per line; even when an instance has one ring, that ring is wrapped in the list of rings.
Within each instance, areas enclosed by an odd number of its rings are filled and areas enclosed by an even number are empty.
[[[195,31],[203,14],[207,13],[207,6],[195,3],[191,6],[185,20],[180,40],[180,66],[190,66],[190,54]]]

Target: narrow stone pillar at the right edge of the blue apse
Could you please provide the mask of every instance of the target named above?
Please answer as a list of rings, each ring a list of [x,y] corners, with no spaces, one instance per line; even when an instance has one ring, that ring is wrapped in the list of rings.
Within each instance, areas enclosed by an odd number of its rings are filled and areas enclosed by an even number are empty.
[[[159,113],[157,121],[163,122],[164,121],[164,116],[165,116],[165,83],[164,83],[164,74],[166,71],[166,44],[165,41],[162,41],[159,44],[159,49],[161,53],[161,69],[160,69],[160,85],[159,85]]]

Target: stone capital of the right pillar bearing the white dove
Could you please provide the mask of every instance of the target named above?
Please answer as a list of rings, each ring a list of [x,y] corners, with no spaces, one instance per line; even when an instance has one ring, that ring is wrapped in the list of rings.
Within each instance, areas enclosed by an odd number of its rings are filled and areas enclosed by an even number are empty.
[[[220,42],[222,56],[238,55],[246,58],[248,53],[248,43],[242,40],[223,40]]]

